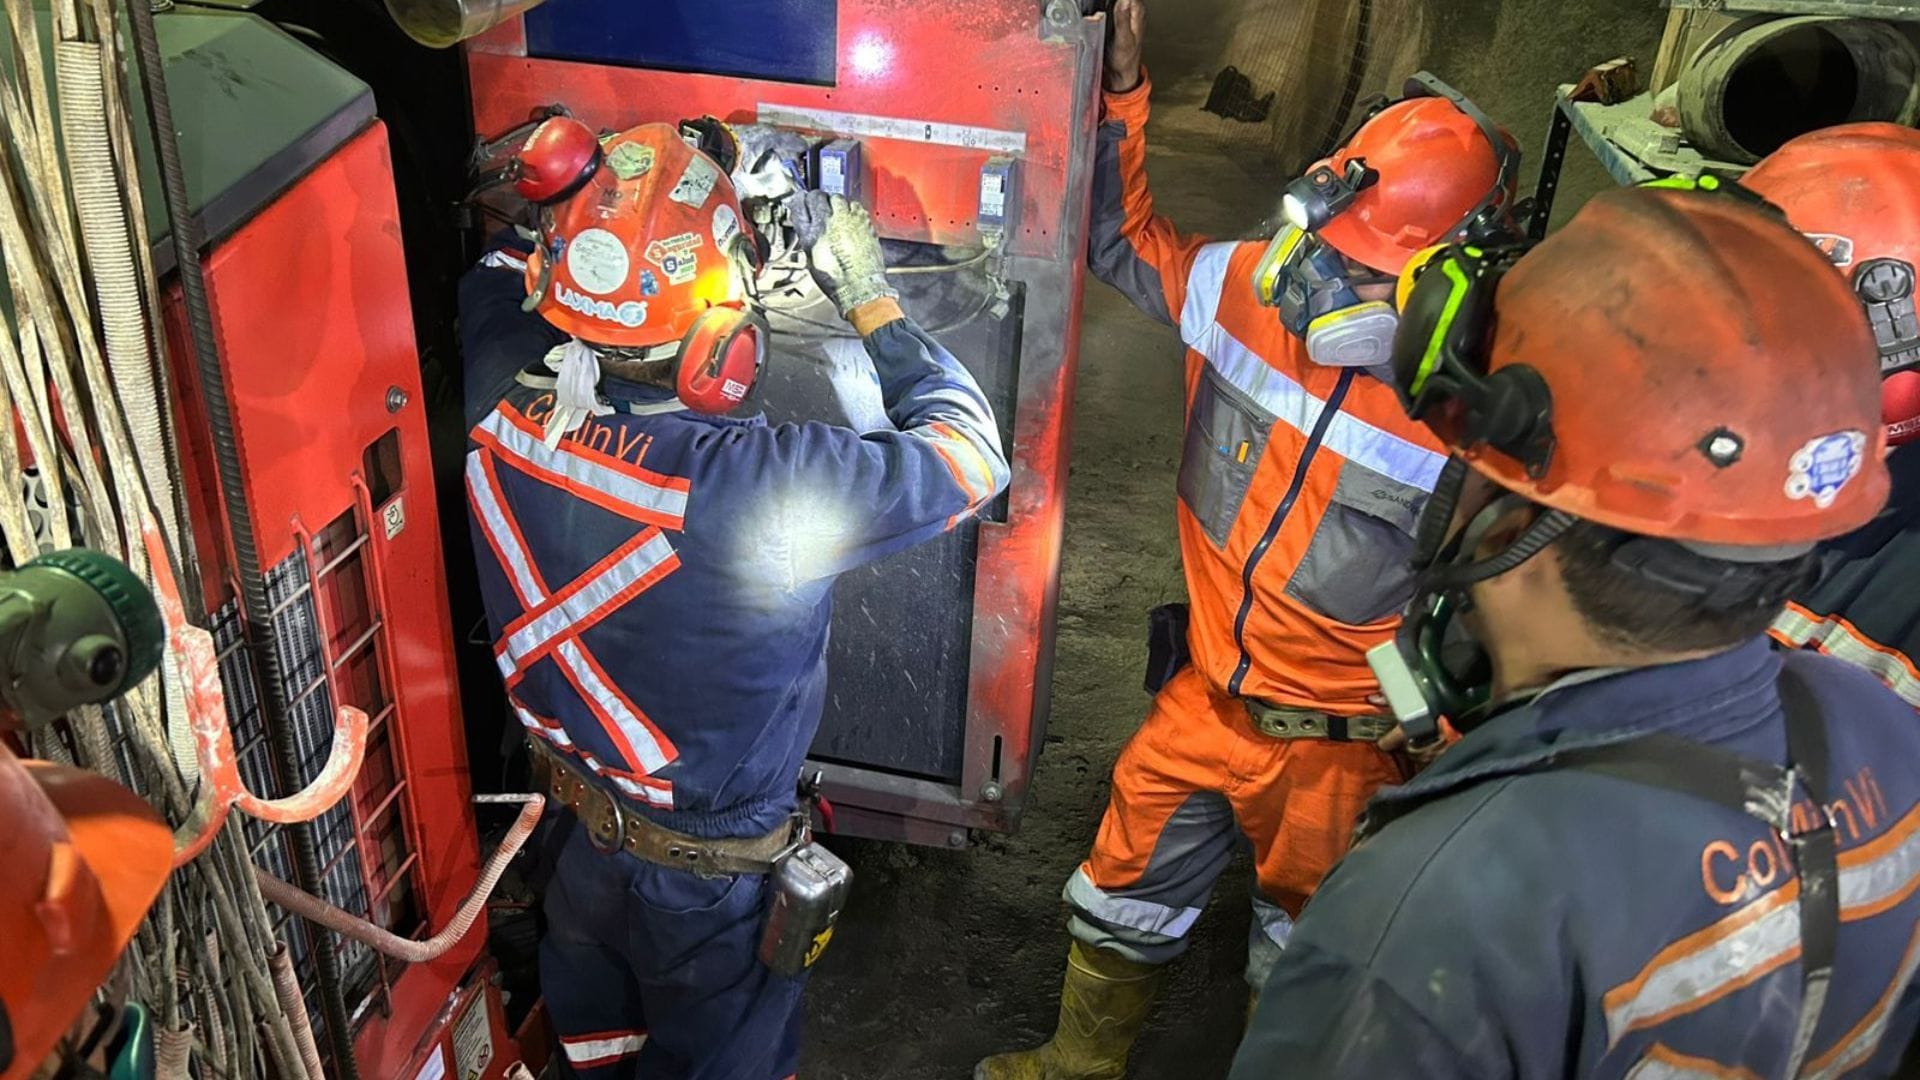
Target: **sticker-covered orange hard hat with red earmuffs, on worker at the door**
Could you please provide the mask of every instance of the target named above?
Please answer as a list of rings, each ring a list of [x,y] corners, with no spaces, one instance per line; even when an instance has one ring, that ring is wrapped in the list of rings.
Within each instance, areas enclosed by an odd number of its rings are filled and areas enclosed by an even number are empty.
[[[726,171],[668,123],[607,136],[601,160],[543,215],[526,265],[541,317],[589,344],[647,348],[680,342],[712,307],[739,306],[733,258],[749,242]]]

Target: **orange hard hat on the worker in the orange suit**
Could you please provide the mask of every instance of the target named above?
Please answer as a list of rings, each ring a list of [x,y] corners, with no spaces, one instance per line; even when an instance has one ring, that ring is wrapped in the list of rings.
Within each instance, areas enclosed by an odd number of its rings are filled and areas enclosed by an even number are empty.
[[[1488,194],[1498,190],[1498,202],[1513,202],[1515,169],[1501,177],[1513,138],[1505,131],[1500,136],[1507,146],[1496,152],[1480,121],[1444,96],[1386,106],[1332,158],[1313,165],[1344,173],[1348,161],[1363,160],[1380,175],[1319,236],[1382,273],[1400,273],[1415,254],[1465,238],[1457,229]]]

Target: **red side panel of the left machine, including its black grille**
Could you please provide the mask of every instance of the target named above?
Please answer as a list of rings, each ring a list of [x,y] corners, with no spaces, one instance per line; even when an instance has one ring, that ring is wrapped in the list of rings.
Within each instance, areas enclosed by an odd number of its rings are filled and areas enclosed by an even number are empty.
[[[340,146],[223,240],[205,271],[288,665],[288,723],[324,717],[332,701],[361,705],[374,724],[353,798],[315,824],[321,892],[399,934],[430,932],[472,888],[478,844],[386,129]],[[204,592],[232,623],[234,561],[177,292],[167,325]],[[236,640],[232,625],[225,636]],[[223,671],[228,701],[248,700],[234,694],[244,663]],[[236,709],[236,734],[244,724]],[[242,742],[244,767],[248,753]],[[255,826],[255,857],[275,869],[280,842]],[[363,1076],[399,1076],[417,1057],[484,940],[480,922],[417,967],[344,949]]]

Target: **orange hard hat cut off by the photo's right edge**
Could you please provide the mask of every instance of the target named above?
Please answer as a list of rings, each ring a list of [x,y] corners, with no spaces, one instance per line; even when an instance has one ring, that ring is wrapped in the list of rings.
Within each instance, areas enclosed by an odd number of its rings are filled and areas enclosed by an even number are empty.
[[[1849,123],[1801,135],[1741,179],[1853,284],[1880,352],[1887,442],[1920,440],[1920,131]]]

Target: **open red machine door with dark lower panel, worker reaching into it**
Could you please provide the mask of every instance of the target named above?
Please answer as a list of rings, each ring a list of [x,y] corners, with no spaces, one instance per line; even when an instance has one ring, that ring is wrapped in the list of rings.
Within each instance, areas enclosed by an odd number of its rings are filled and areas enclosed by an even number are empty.
[[[1012,830],[1046,726],[1102,23],[1079,4],[547,0],[468,44],[474,127],[563,100],[586,123],[716,115],[816,148],[858,198],[902,304],[979,379],[1010,492],[835,588],[814,763],[841,832]],[[993,58],[993,65],[954,58]],[[781,267],[797,275],[781,281]],[[776,252],[768,419],[885,423],[833,373],[860,350]]]

